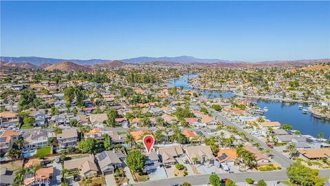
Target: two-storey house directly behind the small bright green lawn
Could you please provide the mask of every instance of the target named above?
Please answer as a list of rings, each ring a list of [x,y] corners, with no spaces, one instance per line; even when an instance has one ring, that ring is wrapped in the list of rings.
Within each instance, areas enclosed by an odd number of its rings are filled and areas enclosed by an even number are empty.
[[[48,134],[45,130],[28,131],[22,136],[24,150],[31,151],[48,145]]]

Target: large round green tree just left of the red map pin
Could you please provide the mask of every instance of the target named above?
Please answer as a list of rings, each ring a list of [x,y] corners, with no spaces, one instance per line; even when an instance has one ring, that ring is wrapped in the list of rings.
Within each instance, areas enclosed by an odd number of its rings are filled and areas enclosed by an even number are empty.
[[[133,172],[141,173],[144,167],[144,156],[140,150],[132,150],[126,156],[126,163]]]

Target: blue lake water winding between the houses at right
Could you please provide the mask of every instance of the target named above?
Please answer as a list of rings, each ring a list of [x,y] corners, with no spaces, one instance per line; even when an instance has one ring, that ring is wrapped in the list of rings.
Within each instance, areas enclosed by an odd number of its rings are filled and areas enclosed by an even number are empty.
[[[168,85],[176,87],[184,87],[185,90],[193,90],[188,86],[188,78],[196,77],[197,74],[185,74],[180,79],[175,79],[168,82]],[[199,92],[206,97],[219,97],[222,95],[225,98],[234,96],[231,92],[210,92],[199,90]],[[311,116],[311,113],[303,114],[301,110],[298,110],[297,103],[286,104],[278,101],[265,101],[254,100],[254,102],[261,108],[267,107],[268,112],[265,112],[267,119],[271,121],[278,121],[282,124],[287,123],[292,125],[295,130],[299,130],[302,134],[309,134],[317,137],[318,133],[322,132],[324,138],[330,138],[330,121],[315,118]]]

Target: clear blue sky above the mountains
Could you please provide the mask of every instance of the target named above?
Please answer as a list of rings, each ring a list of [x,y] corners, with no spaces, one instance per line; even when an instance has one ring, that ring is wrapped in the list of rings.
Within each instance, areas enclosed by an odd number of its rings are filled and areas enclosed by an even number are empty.
[[[1,56],[330,58],[329,1],[1,1]]]

